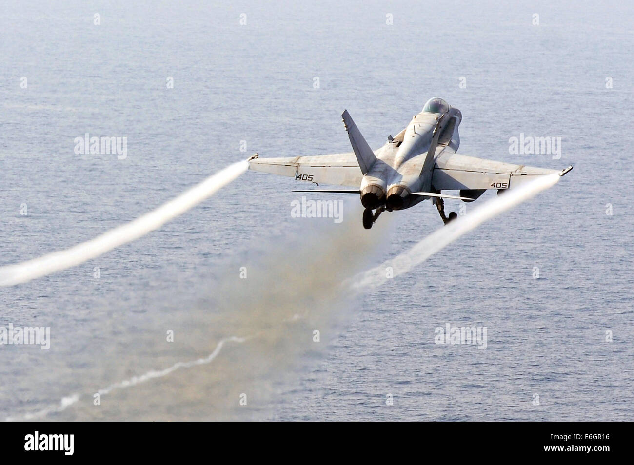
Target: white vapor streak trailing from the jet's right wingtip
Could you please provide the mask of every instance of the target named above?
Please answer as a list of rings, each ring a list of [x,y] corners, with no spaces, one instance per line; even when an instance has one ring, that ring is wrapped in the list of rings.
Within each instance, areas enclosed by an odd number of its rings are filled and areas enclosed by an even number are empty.
[[[421,264],[434,253],[439,252],[485,221],[500,215],[500,213],[515,207],[515,205],[523,201],[529,200],[529,198],[541,191],[552,188],[559,182],[559,178],[559,174],[540,176],[517,189],[509,190],[483,203],[480,207],[474,208],[469,215],[458,217],[448,225],[432,232],[429,236],[425,236],[417,245],[400,253],[397,257],[387,260],[373,269],[359,273],[351,280],[349,286],[356,292],[363,292],[368,289],[368,286],[379,286],[388,279],[385,273],[387,267],[392,267],[393,277],[411,271],[413,267]]]

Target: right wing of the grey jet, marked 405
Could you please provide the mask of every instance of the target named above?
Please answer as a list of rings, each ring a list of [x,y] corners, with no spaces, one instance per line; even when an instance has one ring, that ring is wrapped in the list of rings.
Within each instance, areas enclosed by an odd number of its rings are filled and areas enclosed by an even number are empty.
[[[445,189],[507,189],[536,176],[564,175],[565,170],[534,168],[514,163],[495,162],[475,156],[443,152],[437,156],[432,174],[432,185],[437,191]]]

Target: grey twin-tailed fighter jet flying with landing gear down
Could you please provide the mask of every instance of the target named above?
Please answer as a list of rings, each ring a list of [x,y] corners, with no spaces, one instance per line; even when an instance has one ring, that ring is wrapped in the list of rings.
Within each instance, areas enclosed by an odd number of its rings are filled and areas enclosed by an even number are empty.
[[[349,189],[311,189],[297,192],[351,193],[361,196],[363,226],[370,229],[381,212],[413,207],[427,198],[436,204],[444,223],[457,215],[444,213],[443,198],[471,202],[487,189],[515,188],[536,176],[564,170],[514,165],[456,153],[462,113],[441,98],[432,98],[396,137],[372,150],[347,110],[341,115],[353,152],[288,158],[249,159],[252,170],[292,176],[297,181],[334,184]],[[459,195],[444,194],[457,190]],[[373,211],[374,210],[374,211]]]

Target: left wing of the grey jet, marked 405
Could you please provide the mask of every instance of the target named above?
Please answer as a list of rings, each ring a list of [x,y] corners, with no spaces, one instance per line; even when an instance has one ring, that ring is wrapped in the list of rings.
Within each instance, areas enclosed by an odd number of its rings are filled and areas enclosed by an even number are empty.
[[[288,158],[253,156],[249,159],[249,169],[290,176],[297,181],[317,182],[319,184],[323,182],[323,184],[356,189],[361,185],[363,178],[354,152]]]

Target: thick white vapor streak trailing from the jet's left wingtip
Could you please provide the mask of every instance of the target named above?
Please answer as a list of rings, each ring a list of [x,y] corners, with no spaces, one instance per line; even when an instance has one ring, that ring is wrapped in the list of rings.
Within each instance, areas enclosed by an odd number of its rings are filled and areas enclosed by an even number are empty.
[[[74,267],[113,248],[134,241],[216,193],[245,172],[248,167],[249,163],[246,161],[233,163],[159,208],[136,220],[110,229],[94,239],[27,262],[0,267],[0,286],[26,283],[36,277]]]

